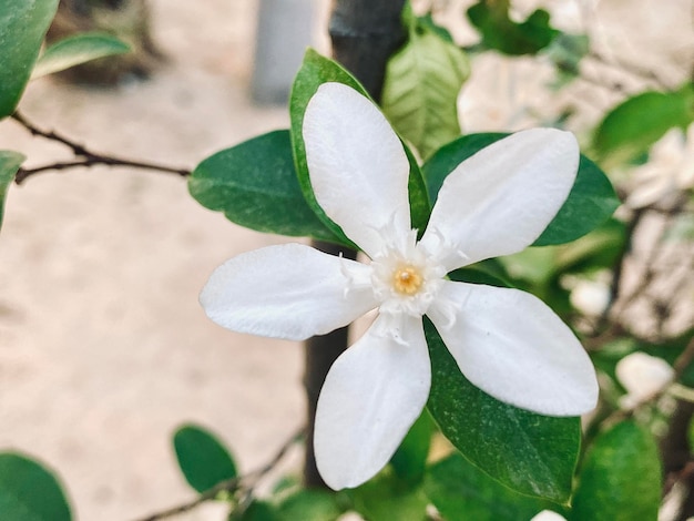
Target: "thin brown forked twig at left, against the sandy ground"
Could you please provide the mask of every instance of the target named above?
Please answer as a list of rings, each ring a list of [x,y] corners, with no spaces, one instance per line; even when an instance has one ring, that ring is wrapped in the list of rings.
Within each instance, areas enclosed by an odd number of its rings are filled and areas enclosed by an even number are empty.
[[[92,152],[88,150],[84,145],[75,143],[74,141],[70,140],[69,137],[62,134],[59,134],[54,131],[44,131],[44,130],[39,129],[19,112],[14,112],[14,114],[12,114],[12,119],[17,121],[18,123],[20,123],[29,132],[31,132],[32,135],[38,135],[40,137],[44,137],[47,140],[61,143],[68,146],[75,156],[82,157],[75,161],[51,163],[47,165],[37,166],[33,168],[20,168],[19,172],[17,172],[17,175],[14,176],[14,182],[17,184],[21,184],[27,177],[38,174],[40,172],[47,172],[50,170],[61,171],[61,170],[67,170],[67,168],[75,168],[80,166],[90,167],[90,166],[95,166],[95,165],[130,166],[131,168],[154,170],[159,172],[177,174],[177,175],[181,175],[182,177],[191,175],[191,171],[185,170],[185,168],[176,168],[172,166],[142,162],[142,161],[132,161],[132,160],[127,160],[124,157],[104,155],[104,154],[99,154],[96,152]]]

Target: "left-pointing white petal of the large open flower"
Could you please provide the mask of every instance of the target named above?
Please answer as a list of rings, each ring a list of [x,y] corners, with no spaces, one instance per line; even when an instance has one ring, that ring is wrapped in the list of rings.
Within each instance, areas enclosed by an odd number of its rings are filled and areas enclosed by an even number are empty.
[[[220,326],[287,340],[305,340],[346,326],[376,307],[370,285],[346,292],[370,268],[302,244],[268,246],[216,268],[200,295]]]

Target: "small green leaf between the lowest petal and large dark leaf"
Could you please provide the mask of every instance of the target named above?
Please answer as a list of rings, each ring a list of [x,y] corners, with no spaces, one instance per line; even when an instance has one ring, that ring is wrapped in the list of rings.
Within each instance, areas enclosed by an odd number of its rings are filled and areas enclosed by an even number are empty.
[[[425,409],[412,427],[410,427],[396,453],[390,458],[392,470],[400,479],[410,483],[421,481],[427,467],[427,458],[429,457],[431,435],[433,435],[435,429],[436,425]]]

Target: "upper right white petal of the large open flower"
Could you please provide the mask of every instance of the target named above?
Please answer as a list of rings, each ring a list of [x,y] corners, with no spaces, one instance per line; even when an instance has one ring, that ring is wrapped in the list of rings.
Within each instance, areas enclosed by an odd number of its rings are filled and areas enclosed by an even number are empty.
[[[573,134],[554,129],[518,132],[482,149],[443,182],[422,244],[436,255],[442,237],[466,264],[524,249],[567,200],[579,156]]]

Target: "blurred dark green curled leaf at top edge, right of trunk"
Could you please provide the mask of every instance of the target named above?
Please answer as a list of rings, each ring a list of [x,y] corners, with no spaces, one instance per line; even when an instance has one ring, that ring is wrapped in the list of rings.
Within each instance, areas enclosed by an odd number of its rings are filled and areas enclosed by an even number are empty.
[[[510,0],[480,0],[468,9],[468,19],[480,31],[487,49],[512,55],[535,54],[559,33],[550,25],[550,13],[543,9],[516,23],[509,18],[510,6]]]

